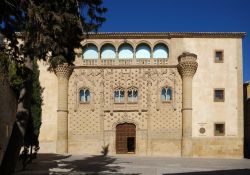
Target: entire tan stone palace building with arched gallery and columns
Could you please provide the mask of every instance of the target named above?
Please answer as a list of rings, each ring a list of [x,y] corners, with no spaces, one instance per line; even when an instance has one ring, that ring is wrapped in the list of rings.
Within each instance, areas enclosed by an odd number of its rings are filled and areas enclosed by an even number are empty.
[[[243,157],[245,33],[97,33],[45,87],[41,152]]]

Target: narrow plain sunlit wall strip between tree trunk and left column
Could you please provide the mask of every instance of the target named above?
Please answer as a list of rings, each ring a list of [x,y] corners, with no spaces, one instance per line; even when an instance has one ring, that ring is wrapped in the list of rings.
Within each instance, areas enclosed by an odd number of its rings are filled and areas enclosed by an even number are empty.
[[[44,88],[42,105],[42,125],[39,134],[40,153],[56,152],[57,137],[57,77],[54,72],[49,72],[48,64],[39,61],[39,81]]]

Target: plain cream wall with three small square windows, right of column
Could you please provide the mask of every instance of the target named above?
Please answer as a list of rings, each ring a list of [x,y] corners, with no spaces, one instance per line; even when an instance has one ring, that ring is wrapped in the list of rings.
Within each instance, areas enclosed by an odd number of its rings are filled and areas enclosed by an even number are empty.
[[[193,78],[194,155],[242,158],[244,133],[241,39],[184,38],[177,40],[181,40],[179,41],[181,49],[198,56],[199,66]],[[221,63],[215,62],[216,50],[223,51],[224,60]],[[223,102],[214,101],[215,88],[224,88],[225,100]],[[215,136],[214,124],[216,122],[225,123],[224,136]],[[200,128],[205,128],[205,132],[200,132]],[[232,142],[237,140],[237,142],[233,142],[235,144],[228,147],[229,140]],[[200,154],[201,152],[203,153]]]

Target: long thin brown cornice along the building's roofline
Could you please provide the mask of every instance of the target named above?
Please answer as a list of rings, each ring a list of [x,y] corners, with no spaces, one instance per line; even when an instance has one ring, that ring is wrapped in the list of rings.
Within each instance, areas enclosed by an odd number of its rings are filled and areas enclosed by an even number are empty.
[[[244,38],[246,32],[98,32],[87,33],[89,39],[134,39],[134,38]]]

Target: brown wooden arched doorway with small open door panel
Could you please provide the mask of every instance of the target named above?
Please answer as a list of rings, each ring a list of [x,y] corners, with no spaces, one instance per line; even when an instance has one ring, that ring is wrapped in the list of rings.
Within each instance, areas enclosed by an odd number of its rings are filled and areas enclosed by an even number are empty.
[[[135,153],[136,127],[132,123],[116,126],[116,153]]]

